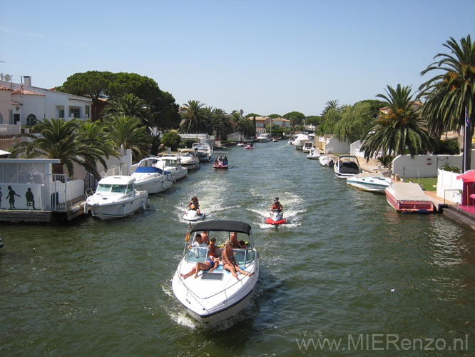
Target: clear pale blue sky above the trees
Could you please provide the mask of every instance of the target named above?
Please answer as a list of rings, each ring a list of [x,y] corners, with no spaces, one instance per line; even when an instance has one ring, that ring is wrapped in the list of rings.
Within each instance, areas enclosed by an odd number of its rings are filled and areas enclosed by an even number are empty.
[[[0,71],[51,88],[76,72],[154,79],[178,104],[319,115],[325,103],[417,90],[474,0],[1,1]]]

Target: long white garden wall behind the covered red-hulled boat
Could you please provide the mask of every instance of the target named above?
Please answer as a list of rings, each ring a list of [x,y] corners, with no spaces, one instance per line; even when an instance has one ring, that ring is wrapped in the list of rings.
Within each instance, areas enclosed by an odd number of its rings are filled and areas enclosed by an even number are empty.
[[[471,169],[475,169],[475,150],[471,151]],[[430,161],[428,161],[430,159]],[[461,169],[463,154],[459,155],[399,155],[392,161],[392,172],[399,177],[436,177],[437,169],[449,164]],[[430,164],[428,164],[430,163]]]

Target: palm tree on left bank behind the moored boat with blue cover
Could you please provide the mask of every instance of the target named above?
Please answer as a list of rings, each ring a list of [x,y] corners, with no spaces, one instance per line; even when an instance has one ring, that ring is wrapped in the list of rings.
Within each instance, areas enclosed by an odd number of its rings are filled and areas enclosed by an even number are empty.
[[[115,114],[106,120],[108,139],[116,149],[132,150],[134,160],[147,156],[150,150],[150,137],[146,127],[141,126],[141,120],[135,116]]]

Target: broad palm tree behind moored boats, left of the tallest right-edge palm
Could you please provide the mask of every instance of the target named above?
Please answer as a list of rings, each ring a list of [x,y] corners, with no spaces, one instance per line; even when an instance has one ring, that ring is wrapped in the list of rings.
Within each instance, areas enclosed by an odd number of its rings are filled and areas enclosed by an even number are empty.
[[[364,157],[369,159],[380,150],[384,154],[404,154],[406,149],[411,156],[434,149],[434,142],[422,126],[424,122],[419,117],[417,101],[419,96],[412,99],[411,87],[400,84],[396,89],[387,86],[387,96],[378,94],[385,100],[387,111],[380,114],[375,124],[365,131],[362,141]]]

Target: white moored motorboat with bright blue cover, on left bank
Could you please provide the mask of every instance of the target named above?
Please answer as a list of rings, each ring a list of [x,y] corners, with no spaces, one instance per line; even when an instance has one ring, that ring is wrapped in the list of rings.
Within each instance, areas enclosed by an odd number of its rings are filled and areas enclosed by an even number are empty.
[[[132,176],[136,178],[136,189],[145,190],[148,194],[168,190],[175,182],[175,178],[168,171],[163,171],[156,166],[158,159],[145,158],[139,161],[136,171]]]

